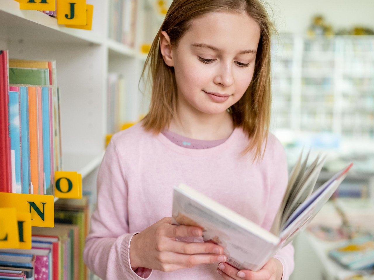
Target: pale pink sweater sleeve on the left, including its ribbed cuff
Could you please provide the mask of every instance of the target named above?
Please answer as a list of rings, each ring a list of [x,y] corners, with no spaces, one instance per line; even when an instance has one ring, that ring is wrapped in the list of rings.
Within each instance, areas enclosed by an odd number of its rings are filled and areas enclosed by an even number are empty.
[[[83,252],[86,265],[101,279],[148,279],[151,270],[130,265],[127,184],[113,140],[109,143],[97,177],[98,199]]]

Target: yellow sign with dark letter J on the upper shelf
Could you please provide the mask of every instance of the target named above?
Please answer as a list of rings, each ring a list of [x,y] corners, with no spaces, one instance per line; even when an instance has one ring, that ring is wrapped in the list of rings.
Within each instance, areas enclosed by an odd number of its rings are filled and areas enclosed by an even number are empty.
[[[58,0],[56,12],[58,24],[87,23],[86,0]]]

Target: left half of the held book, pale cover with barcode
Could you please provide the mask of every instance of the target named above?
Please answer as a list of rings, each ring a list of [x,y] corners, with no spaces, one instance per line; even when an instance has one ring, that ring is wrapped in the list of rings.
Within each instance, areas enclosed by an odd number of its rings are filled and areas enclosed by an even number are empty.
[[[239,216],[184,184],[174,187],[173,224],[199,226],[203,229],[204,242],[224,247],[228,264],[239,270],[257,271],[275,254],[279,238]],[[195,240],[187,242],[191,241]]]

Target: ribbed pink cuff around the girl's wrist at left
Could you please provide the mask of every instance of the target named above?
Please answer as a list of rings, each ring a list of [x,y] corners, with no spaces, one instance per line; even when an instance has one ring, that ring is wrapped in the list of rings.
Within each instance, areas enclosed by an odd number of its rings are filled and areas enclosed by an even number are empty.
[[[125,265],[125,270],[128,275],[128,279],[131,280],[143,280],[143,279],[149,279],[151,276],[152,270],[149,268],[140,267],[136,270],[132,270],[131,264],[130,264],[130,242],[132,237],[135,234],[138,234],[139,232],[135,232],[132,235],[127,235],[125,239],[122,241],[122,247],[121,247],[121,258],[122,262]]]

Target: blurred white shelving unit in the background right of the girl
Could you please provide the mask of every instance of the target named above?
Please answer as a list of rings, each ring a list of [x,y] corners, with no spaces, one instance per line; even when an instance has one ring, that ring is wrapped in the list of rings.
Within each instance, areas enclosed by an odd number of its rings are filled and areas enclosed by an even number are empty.
[[[374,137],[374,36],[274,42],[272,129]]]

